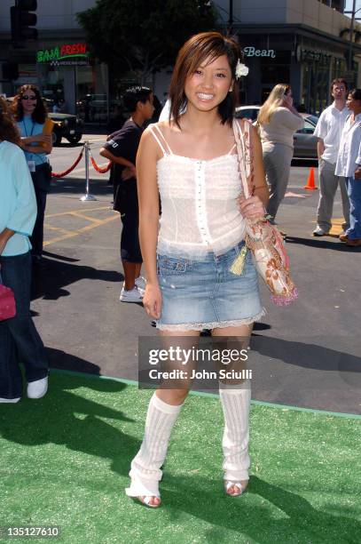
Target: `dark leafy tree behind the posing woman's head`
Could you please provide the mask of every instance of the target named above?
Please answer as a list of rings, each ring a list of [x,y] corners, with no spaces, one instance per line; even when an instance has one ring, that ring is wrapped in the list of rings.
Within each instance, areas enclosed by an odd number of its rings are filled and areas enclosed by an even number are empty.
[[[187,38],[216,28],[208,0],[98,0],[77,19],[93,56],[115,73],[137,72],[140,82],[173,65]]]

